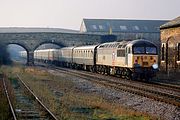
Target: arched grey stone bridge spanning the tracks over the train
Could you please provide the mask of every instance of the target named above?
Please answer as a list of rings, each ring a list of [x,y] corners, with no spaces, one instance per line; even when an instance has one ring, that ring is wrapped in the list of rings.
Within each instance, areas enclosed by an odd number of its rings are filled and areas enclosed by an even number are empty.
[[[102,35],[79,33],[0,33],[0,42],[6,45],[17,44],[27,51],[27,64],[34,64],[34,50],[42,44],[52,43],[64,46],[98,44],[106,41]]]

